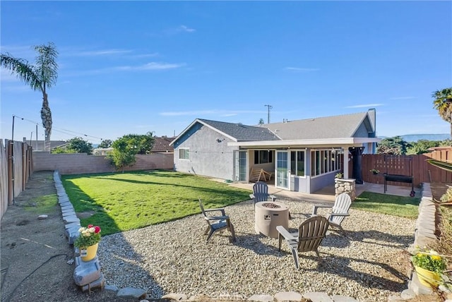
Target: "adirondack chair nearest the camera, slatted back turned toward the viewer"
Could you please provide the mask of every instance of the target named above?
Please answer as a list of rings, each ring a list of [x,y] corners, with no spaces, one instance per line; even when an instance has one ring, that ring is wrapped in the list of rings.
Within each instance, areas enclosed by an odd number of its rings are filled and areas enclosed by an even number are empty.
[[[276,230],[279,233],[278,250],[281,250],[281,243],[284,238],[292,252],[297,269],[299,269],[298,253],[314,251],[321,260],[318,248],[328,230],[328,219],[326,217],[314,216],[306,219],[295,233],[290,233],[283,226],[276,227]]]

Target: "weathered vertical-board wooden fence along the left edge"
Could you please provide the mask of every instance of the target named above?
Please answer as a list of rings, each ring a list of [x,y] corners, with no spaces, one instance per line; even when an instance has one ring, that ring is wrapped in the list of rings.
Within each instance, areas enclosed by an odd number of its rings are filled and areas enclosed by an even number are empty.
[[[0,217],[25,190],[33,173],[32,148],[27,143],[0,140]]]

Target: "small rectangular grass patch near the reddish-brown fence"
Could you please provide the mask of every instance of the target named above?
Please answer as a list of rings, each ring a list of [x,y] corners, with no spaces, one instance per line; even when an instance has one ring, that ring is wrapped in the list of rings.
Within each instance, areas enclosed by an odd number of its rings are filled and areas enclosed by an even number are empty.
[[[357,210],[415,219],[420,198],[363,192],[352,203]]]

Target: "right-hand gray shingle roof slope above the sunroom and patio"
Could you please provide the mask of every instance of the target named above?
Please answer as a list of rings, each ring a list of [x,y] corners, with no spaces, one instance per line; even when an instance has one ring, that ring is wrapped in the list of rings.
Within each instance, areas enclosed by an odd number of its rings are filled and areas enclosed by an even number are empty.
[[[366,116],[367,112],[359,112],[285,123],[268,123],[262,126],[273,131],[282,140],[351,138]]]

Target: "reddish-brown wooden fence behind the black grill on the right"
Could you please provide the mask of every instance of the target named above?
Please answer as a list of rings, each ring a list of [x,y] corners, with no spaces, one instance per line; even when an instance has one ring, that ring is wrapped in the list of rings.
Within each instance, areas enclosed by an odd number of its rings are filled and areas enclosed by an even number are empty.
[[[452,172],[432,166],[427,162],[429,158],[452,162],[452,148],[422,155],[362,155],[362,180],[369,183],[383,183],[382,175],[387,173],[412,176],[415,186],[420,186],[420,183],[452,183]],[[371,169],[379,170],[379,174],[372,174]],[[388,181],[388,185],[411,186],[410,183],[395,181]]]

